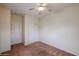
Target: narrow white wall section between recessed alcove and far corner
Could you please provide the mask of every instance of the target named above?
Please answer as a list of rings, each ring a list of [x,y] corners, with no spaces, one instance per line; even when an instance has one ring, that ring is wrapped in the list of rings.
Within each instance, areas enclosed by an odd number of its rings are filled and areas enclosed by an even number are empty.
[[[24,16],[25,45],[39,40],[38,19],[31,15]]]

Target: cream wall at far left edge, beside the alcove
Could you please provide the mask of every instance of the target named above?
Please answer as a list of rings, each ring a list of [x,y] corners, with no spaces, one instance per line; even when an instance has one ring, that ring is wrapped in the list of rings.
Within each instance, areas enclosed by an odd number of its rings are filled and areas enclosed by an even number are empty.
[[[10,50],[10,10],[0,6],[0,52]]]

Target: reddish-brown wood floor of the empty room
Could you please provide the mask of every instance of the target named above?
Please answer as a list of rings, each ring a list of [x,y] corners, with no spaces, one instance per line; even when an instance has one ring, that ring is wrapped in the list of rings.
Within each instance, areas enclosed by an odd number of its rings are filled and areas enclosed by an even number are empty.
[[[10,56],[74,56],[42,42],[35,42],[28,46],[15,44],[12,45],[11,51],[2,54],[9,54]]]

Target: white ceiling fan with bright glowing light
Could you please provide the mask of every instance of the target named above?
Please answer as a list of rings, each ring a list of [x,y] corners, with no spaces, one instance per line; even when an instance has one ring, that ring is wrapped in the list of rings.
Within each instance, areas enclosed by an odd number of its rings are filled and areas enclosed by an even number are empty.
[[[34,7],[29,9],[30,11],[38,11],[38,14],[41,15],[43,12],[50,12],[47,3],[37,3]]]

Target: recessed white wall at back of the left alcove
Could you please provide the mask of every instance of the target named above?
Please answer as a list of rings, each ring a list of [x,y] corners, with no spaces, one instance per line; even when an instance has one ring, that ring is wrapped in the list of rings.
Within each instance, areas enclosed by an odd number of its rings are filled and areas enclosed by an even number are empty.
[[[11,15],[11,44],[22,43],[22,16]]]

